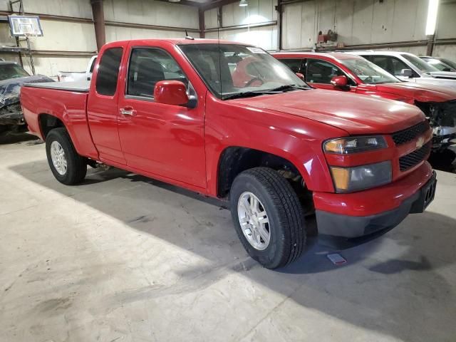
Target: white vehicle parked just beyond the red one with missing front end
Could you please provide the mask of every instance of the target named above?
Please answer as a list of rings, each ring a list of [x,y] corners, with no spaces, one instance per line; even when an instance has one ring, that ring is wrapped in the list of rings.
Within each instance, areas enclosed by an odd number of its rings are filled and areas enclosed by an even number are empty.
[[[403,81],[456,88],[456,73],[440,71],[412,53],[396,51],[347,51],[347,53],[363,56]]]

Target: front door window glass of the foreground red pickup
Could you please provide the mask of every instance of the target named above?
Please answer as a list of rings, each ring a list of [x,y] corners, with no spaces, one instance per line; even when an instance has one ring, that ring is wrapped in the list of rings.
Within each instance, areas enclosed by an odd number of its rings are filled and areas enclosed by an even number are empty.
[[[130,56],[127,95],[153,98],[158,81],[188,81],[177,62],[168,53],[152,48],[135,48]]]

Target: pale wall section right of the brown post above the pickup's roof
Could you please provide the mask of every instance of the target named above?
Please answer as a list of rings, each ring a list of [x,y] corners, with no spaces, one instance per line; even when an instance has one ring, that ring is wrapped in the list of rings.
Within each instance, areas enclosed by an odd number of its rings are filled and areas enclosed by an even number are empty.
[[[456,1],[440,1],[437,39],[456,38]],[[277,1],[249,0],[249,6],[238,3],[222,7],[222,27],[254,24],[277,19]],[[309,0],[283,5],[282,48],[313,48],[318,31],[338,33],[346,45],[426,41],[425,25],[428,0]],[[217,27],[217,9],[204,13],[206,29]],[[277,26],[240,28],[220,31],[220,38],[255,43],[267,50],[278,48]],[[217,32],[206,33],[217,38]],[[398,46],[398,51],[423,55],[426,46]],[[456,59],[456,45],[441,43],[434,56]]]

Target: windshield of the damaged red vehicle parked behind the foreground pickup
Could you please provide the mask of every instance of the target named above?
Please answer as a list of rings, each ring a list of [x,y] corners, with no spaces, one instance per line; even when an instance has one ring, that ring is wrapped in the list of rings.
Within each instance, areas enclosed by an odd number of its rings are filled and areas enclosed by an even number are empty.
[[[349,68],[353,73],[356,73],[363,83],[380,84],[380,83],[396,83],[400,82],[398,78],[383,70],[380,66],[366,59],[343,59],[341,63]]]

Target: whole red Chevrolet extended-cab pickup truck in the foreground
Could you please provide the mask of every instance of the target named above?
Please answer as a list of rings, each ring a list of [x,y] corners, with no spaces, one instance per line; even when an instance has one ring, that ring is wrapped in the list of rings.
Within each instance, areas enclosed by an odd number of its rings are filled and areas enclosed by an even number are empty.
[[[418,108],[315,90],[241,43],[108,43],[90,85],[30,84],[21,105],[58,181],[104,163],[229,199],[242,244],[271,269],[299,257],[308,219],[322,237],[369,239],[435,193]]]

